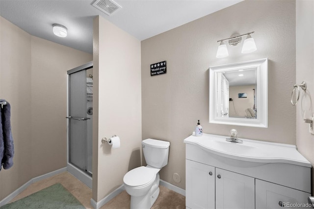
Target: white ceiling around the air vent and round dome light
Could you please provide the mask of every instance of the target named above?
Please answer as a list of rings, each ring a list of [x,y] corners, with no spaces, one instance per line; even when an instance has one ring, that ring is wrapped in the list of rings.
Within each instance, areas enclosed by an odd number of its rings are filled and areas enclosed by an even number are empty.
[[[0,0],[0,16],[27,33],[83,52],[93,52],[93,19],[100,15],[138,40],[181,26],[242,0],[114,0],[122,6],[111,16],[95,0]],[[68,36],[52,33],[52,24]]]

